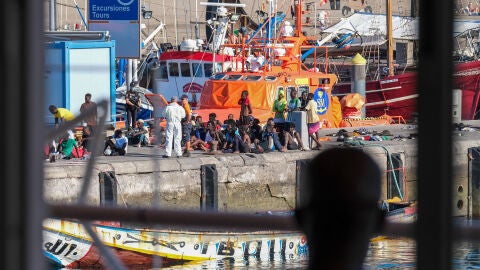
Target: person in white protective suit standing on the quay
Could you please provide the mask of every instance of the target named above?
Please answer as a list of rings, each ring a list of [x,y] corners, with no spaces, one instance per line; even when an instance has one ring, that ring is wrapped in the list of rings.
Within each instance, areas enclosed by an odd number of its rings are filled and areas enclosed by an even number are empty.
[[[182,124],[181,120],[185,117],[185,110],[178,105],[178,98],[173,96],[170,104],[163,111],[163,117],[167,120],[165,155],[162,157],[169,158],[172,156],[172,146],[175,149],[177,157],[182,156]]]

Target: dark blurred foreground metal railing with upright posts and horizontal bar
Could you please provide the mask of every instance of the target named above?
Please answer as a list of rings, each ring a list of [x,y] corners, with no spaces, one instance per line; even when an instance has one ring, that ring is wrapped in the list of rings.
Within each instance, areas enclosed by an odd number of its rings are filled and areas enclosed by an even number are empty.
[[[41,153],[45,135],[42,115],[44,108],[44,51],[43,51],[43,2],[35,0],[6,0],[0,4],[4,18],[4,50],[2,59],[7,74],[3,89],[4,115],[2,170],[2,212],[4,252],[1,263],[3,269],[47,269],[41,249],[42,226],[48,216],[75,216],[83,219],[98,217],[99,210],[85,206],[48,206],[42,198],[43,158]],[[423,0],[420,2],[421,57],[419,77],[419,215],[415,225],[391,225],[385,233],[414,235],[418,243],[418,269],[450,269],[451,244],[456,236],[473,239],[478,237],[477,227],[453,228],[450,218],[451,184],[451,1]],[[23,14],[23,15],[22,15]],[[437,104],[441,110],[432,110]],[[436,135],[429,136],[435,129]],[[442,147],[439,147],[442,146]],[[436,154],[432,164],[430,154]],[[434,182],[434,184],[432,184]],[[129,209],[111,209],[112,218],[142,220],[139,213]],[[68,211],[66,213],[65,211]],[[75,214],[72,214],[75,211]],[[117,212],[118,211],[118,212]],[[145,212],[146,211],[146,212]],[[152,211],[152,212],[149,212]],[[102,218],[109,211],[101,210]],[[143,210],[144,215],[154,220],[181,217],[175,213],[160,210]],[[114,216],[115,214],[115,216]],[[123,217],[122,217],[123,215]],[[197,218],[204,220],[201,214]],[[218,217],[225,226],[242,221],[238,216]],[[237,219],[238,218],[238,219]],[[274,226],[279,217],[259,217],[259,224]],[[158,220],[157,220],[158,219]],[[230,221],[228,221],[230,220]],[[274,222],[275,221],[275,222]],[[198,219],[190,216],[185,223],[195,223]],[[275,223],[275,224],[273,224]],[[217,223],[216,225],[219,225]],[[249,220],[249,224],[254,224]],[[291,220],[283,220],[282,226],[290,228]],[[276,228],[282,228],[275,225]]]

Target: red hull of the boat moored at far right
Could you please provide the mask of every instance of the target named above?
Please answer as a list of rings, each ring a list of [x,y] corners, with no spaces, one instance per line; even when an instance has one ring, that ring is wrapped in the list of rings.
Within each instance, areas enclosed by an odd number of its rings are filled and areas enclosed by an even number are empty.
[[[462,90],[462,119],[475,119],[479,101],[480,61],[455,65],[454,89]],[[402,116],[406,120],[413,118],[417,111],[416,72],[388,76],[381,80],[367,81],[366,116],[379,117],[385,113]],[[351,83],[338,83],[332,94],[341,98],[351,92]]]

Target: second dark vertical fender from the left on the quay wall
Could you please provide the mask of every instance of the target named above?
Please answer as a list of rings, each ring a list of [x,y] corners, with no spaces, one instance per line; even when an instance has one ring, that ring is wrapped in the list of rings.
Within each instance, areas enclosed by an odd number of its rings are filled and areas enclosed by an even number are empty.
[[[215,164],[200,167],[202,211],[218,211],[218,172]]]

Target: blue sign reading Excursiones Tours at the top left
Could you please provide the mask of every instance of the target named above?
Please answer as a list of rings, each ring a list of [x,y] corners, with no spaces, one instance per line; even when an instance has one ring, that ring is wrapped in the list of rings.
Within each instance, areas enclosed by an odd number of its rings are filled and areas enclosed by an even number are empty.
[[[115,57],[140,58],[139,0],[89,0],[88,30],[108,31]]]

